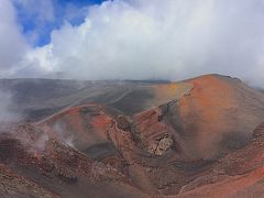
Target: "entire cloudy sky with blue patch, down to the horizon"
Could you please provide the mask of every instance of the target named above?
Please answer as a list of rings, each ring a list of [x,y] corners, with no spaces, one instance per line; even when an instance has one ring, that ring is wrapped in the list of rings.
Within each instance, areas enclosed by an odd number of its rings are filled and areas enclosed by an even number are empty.
[[[0,77],[264,87],[264,0],[0,0]]]

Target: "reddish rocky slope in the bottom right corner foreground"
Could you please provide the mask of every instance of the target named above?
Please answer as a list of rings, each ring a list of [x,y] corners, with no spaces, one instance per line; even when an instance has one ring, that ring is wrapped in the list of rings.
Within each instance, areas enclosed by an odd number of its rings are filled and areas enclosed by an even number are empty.
[[[264,123],[251,142],[219,160],[210,175],[184,186],[176,197],[262,197],[264,195]]]

